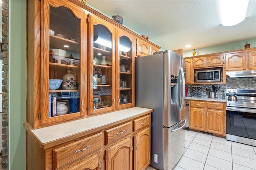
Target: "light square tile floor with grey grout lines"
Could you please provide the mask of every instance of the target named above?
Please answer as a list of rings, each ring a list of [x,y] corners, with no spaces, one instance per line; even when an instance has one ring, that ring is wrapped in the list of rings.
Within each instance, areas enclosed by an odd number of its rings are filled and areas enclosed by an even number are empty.
[[[185,152],[174,170],[256,170],[256,147],[194,131],[185,134]]]

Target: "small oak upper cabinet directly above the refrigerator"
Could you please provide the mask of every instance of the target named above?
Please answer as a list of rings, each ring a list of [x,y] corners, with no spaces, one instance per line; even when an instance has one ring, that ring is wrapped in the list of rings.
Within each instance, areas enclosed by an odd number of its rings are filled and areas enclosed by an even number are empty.
[[[147,55],[152,55],[153,53],[159,51],[159,49],[160,49],[157,46],[150,45],[150,43],[148,43],[148,41],[146,41],[142,38],[137,38],[136,44],[137,44],[137,49],[136,49],[137,57],[144,57]]]

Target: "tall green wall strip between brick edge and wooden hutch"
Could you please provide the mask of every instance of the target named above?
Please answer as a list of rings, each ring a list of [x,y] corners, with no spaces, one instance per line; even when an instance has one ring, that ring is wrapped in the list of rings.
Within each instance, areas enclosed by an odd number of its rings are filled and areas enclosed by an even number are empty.
[[[10,0],[9,169],[26,169],[26,0]]]

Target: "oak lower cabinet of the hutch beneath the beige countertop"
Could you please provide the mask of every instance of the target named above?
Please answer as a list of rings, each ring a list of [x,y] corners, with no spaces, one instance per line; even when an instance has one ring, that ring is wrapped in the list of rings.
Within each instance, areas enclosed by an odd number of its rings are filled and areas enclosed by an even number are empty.
[[[27,169],[145,170],[150,164],[150,122],[150,113],[143,113],[91,129],[84,137],[67,136],[51,147],[27,133]]]

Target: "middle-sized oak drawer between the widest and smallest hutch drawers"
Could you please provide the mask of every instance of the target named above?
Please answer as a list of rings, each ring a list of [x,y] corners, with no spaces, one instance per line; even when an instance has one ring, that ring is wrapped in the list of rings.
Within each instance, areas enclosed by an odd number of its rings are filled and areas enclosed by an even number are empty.
[[[132,133],[132,122],[106,130],[106,145]]]

